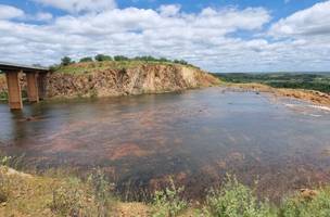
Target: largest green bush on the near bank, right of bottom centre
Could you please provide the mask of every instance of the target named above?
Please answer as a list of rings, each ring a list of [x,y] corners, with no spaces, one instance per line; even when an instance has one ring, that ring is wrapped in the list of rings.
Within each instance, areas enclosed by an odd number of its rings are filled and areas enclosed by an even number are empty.
[[[205,216],[271,217],[277,216],[267,203],[257,202],[253,191],[228,176],[220,190],[212,190],[204,207]]]

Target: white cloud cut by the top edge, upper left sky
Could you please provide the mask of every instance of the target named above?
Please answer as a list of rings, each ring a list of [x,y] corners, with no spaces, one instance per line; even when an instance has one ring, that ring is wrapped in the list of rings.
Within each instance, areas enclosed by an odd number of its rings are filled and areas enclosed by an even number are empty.
[[[116,8],[114,0],[33,0],[71,13],[102,12]]]

